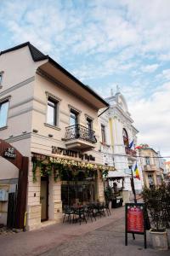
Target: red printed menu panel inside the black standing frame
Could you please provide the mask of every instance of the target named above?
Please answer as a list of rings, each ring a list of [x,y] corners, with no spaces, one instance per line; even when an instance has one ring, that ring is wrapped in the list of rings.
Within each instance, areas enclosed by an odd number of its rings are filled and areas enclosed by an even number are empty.
[[[127,207],[127,232],[144,233],[144,207]]]

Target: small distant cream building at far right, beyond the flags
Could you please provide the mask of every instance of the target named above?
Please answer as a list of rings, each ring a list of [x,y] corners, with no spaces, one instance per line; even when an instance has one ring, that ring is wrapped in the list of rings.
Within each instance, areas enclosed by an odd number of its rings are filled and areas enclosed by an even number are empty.
[[[155,185],[161,185],[163,179],[163,163],[161,163],[161,154],[150,148],[147,144],[141,144],[138,147],[140,165],[144,177],[144,185],[147,188]]]

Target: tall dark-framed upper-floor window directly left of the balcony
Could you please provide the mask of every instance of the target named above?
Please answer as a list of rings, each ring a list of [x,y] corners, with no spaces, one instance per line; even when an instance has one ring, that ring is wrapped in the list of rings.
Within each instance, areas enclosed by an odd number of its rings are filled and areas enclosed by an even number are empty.
[[[58,125],[58,102],[53,98],[48,97],[48,114],[47,123],[48,125]]]

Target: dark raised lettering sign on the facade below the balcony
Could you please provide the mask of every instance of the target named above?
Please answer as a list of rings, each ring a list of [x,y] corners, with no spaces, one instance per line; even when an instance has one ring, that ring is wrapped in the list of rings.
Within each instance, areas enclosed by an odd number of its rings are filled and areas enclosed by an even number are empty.
[[[74,158],[80,158],[81,160],[95,161],[95,157],[92,154],[82,154],[80,151],[74,151],[55,146],[52,146],[52,154],[62,154]]]

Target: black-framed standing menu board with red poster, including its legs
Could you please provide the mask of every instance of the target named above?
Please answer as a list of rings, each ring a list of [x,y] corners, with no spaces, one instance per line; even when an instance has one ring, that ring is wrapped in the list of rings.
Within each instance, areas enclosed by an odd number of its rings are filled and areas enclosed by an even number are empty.
[[[127,233],[144,236],[144,248],[146,248],[146,229],[144,221],[144,203],[127,203],[125,205],[125,245],[127,246]]]

